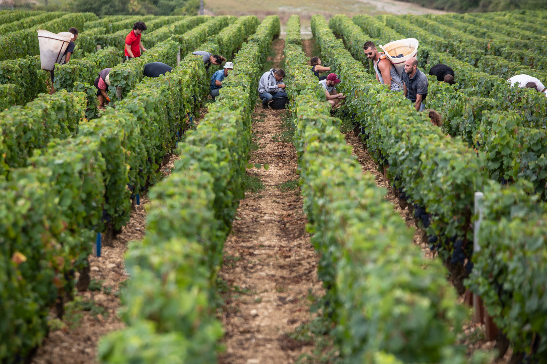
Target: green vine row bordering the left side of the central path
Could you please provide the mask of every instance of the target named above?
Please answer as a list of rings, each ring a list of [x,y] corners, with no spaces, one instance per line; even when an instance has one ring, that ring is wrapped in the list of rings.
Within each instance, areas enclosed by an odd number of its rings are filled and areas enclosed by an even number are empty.
[[[267,50],[278,33],[278,17],[266,17],[257,30],[260,41],[243,45],[236,56],[246,71],[230,75],[232,85],[222,88],[197,130],[188,133],[173,174],[150,191],[147,236],[130,246],[126,259],[132,277],[123,294],[128,327],[101,340],[103,362],[216,361],[223,330],[214,314],[214,283],[245,192],[241,181],[255,101],[248,85],[259,76],[258,62],[265,58],[259,51]],[[203,62],[197,66],[205,72]],[[183,72],[178,67],[167,77]],[[173,304],[178,308],[167,309]]]

